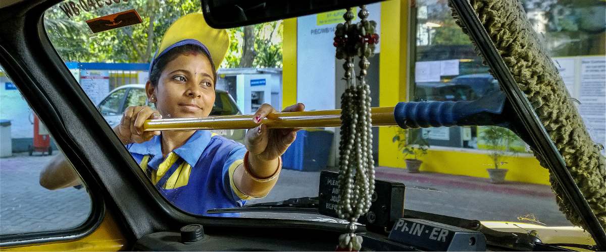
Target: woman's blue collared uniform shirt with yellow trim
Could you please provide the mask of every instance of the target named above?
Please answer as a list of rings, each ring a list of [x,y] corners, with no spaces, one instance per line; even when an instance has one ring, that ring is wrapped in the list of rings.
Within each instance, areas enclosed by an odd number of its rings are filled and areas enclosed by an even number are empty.
[[[148,160],[148,171],[158,171],[164,161],[159,136],[154,136],[144,143],[127,144],[126,147],[138,163]],[[208,131],[196,131],[187,143],[173,152],[185,161],[185,166],[191,166],[191,169],[185,172],[188,173],[188,179],[182,186],[165,189],[163,187],[167,178],[164,176],[171,176],[173,173],[168,170],[163,176],[164,181],[161,180],[156,188],[176,207],[196,215],[207,215],[208,209],[241,207],[246,199],[250,199],[233,184],[233,171],[242,163],[246,153],[244,145],[216,134],[211,135]],[[146,155],[148,158],[144,158]],[[142,165],[145,165],[144,163]],[[174,173],[184,173],[184,170],[186,169],[179,167]],[[209,216],[239,216],[239,213]]]

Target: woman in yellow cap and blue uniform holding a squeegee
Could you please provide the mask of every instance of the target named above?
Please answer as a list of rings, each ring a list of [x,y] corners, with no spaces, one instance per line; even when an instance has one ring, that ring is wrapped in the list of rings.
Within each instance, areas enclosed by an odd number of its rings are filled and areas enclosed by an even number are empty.
[[[228,42],[227,32],[208,27],[200,13],[176,21],[162,39],[145,85],[147,98],[158,111],[148,106],[129,107],[114,128],[162,195],[198,215],[267,195],[278,178],[280,156],[296,137],[296,129],[267,129],[264,124],[248,130],[245,146],[208,131],[143,131],[148,119],[210,114],[215,103],[215,66],[225,57]],[[298,103],[284,111],[303,109]],[[277,111],[264,104],[253,121],[260,123],[272,112]],[[75,184],[72,178],[56,179],[58,167],[42,171],[43,186],[55,188],[53,183],[58,180],[64,181],[60,187]]]

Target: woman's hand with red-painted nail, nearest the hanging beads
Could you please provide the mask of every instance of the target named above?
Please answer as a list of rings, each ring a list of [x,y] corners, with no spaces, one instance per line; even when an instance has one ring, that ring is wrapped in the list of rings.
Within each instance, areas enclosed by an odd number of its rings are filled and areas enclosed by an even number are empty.
[[[288,106],[282,112],[296,112],[303,111],[305,105],[303,103],[297,103],[295,105]],[[278,112],[271,105],[265,103],[261,105],[255,115],[253,121],[259,123],[263,118],[267,117],[268,114]],[[277,160],[288,146],[290,146],[296,138],[296,131],[299,129],[268,129],[267,125],[261,124],[256,128],[249,129],[246,133],[244,144],[246,149],[251,155],[255,155],[256,158],[262,161],[273,161]]]

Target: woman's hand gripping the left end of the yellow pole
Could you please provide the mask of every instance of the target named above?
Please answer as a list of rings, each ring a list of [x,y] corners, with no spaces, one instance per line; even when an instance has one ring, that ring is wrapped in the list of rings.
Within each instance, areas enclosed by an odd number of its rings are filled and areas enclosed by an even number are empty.
[[[160,131],[143,131],[143,123],[148,119],[162,119],[162,115],[148,106],[130,106],[122,114],[120,124],[113,130],[123,144],[143,143],[160,135]]]

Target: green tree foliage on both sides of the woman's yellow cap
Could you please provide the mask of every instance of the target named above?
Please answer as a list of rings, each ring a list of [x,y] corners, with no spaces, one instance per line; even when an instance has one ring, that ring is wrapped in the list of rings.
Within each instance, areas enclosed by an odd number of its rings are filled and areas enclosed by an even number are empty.
[[[59,5],[66,4],[63,2]],[[65,62],[148,63],[155,54],[168,27],[181,16],[199,12],[200,4],[191,0],[130,0],[80,11],[68,18],[55,5],[44,16],[45,30]],[[142,24],[88,35],[85,21],[135,9]],[[242,28],[228,29],[231,44],[221,67],[237,67],[242,56]],[[101,46],[96,45],[95,39]],[[255,25],[255,67],[282,66],[282,22]]]

